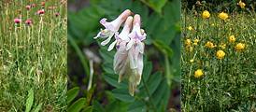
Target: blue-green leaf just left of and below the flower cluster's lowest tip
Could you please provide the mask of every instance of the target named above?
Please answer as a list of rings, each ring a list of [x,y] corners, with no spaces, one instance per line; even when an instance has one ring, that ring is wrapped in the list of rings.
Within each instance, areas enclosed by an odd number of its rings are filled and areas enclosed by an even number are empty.
[[[129,94],[128,89],[114,89],[113,95],[123,102],[134,102],[135,98]]]

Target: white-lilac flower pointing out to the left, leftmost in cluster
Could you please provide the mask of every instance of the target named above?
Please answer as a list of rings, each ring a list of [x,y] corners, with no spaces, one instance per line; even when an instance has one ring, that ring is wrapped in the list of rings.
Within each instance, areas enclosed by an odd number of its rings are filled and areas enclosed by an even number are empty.
[[[101,29],[101,31],[93,37],[94,39],[98,37],[107,38],[104,40],[101,45],[105,46],[109,41],[111,40],[112,36],[117,33],[121,27],[121,23],[127,19],[127,17],[131,14],[131,10],[126,9],[124,10],[121,15],[114,21],[107,22],[107,19],[104,18],[100,21],[100,23],[106,28],[104,30]]]

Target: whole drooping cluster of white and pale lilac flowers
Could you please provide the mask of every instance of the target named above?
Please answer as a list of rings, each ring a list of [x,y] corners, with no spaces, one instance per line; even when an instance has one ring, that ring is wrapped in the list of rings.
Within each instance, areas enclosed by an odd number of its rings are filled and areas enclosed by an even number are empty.
[[[107,22],[104,18],[100,23],[105,26],[105,29],[94,37],[107,38],[101,42],[102,46],[106,46],[111,38],[114,36],[115,40],[108,46],[108,51],[112,50],[115,46],[117,52],[114,56],[113,68],[116,74],[119,74],[119,82],[124,76],[129,80],[129,93],[134,95],[136,86],[139,85],[143,70],[143,53],[146,33],[140,28],[140,16],[135,14],[134,17],[131,10],[126,9],[114,21]],[[125,21],[125,22],[124,22]],[[124,22],[121,33],[119,29]]]

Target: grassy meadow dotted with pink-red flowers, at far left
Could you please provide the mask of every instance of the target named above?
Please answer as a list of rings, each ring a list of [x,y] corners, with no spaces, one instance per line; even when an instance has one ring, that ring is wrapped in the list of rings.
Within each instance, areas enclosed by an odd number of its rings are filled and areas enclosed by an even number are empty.
[[[1,112],[65,109],[65,2],[0,2]]]

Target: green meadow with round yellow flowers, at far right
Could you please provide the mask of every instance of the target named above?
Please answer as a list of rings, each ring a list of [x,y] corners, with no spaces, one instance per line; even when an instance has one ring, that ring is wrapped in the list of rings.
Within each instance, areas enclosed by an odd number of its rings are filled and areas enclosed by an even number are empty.
[[[182,111],[255,111],[255,12],[195,12],[181,15]]]

